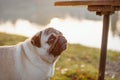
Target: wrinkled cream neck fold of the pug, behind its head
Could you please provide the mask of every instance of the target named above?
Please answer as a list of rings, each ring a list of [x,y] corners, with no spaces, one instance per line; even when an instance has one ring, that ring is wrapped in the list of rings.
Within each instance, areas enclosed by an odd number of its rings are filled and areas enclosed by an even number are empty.
[[[53,55],[50,55],[43,48],[37,48],[33,46],[30,40],[27,40],[23,44],[23,48],[24,48],[25,54],[28,57],[28,59],[30,59],[31,62],[33,62],[34,64],[38,66],[39,66],[39,60],[42,60],[43,62],[47,64],[54,64],[58,58],[58,57],[54,57]]]

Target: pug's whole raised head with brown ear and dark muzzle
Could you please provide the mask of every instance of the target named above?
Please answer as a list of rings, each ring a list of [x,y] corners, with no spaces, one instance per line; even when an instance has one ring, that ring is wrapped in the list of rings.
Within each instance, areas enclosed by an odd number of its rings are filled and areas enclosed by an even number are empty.
[[[59,56],[67,47],[67,40],[63,34],[53,28],[47,28],[37,33],[31,39],[31,43],[38,47],[45,49],[53,56]]]

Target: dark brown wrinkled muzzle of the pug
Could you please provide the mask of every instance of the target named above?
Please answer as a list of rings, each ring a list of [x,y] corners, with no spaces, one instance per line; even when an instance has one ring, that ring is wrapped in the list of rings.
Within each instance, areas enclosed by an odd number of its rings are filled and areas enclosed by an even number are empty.
[[[63,36],[58,36],[49,49],[49,53],[58,56],[67,48],[67,40]]]

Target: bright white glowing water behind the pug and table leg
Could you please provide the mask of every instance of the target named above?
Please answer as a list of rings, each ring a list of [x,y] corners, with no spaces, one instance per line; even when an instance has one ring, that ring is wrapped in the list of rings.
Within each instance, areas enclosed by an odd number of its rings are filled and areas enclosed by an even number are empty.
[[[69,43],[78,43],[89,47],[101,47],[102,21],[77,20],[67,17],[65,19],[53,18],[45,27],[54,27],[60,30]],[[0,31],[12,34],[33,36],[44,27],[28,20],[17,20],[15,24],[8,21],[0,24]],[[120,38],[112,36],[109,30],[108,49],[120,51]]]

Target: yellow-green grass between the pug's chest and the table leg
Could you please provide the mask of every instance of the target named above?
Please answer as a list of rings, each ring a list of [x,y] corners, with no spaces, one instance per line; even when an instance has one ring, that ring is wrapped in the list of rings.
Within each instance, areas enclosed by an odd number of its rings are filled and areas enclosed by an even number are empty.
[[[98,56],[99,49],[68,44],[68,49],[56,64],[52,80],[96,80]],[[64,69],[66,71],[62,72]]]

